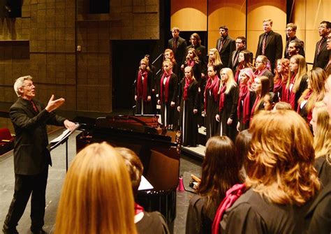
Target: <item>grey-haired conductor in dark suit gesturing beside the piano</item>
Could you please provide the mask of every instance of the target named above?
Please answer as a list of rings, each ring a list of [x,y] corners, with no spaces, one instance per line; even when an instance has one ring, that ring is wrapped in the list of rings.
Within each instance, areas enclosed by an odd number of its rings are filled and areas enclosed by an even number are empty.
[[[64,103],[64,98],[54,100],[52,95],[46,107],[34,98],[36,87],[31,76],[18,78],[14,89],[18,98],[10,107],[9,115],[16,134],[15,192],[3,224],[3,233],[18,233],[16,226],[31,194],[31,231],[45,233],[45,192],[48,165],[52,166],[50,151],[47,149],[46,124],[66,126],[67,129],[73,129],[75,124],[52,112]]]

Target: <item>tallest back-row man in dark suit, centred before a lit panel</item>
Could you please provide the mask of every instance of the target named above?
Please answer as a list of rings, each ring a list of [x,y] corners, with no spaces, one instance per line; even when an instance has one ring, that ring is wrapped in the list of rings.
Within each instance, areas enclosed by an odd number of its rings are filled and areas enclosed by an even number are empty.
[[[270,61],[271,71],[274,71],[274,64],[277,59],[281,59],[283,53],[283,41],[281,34],[272,31],[272,20],[263,20],[264,33],[258,38],[258,50],[255,57],[265,55]]]

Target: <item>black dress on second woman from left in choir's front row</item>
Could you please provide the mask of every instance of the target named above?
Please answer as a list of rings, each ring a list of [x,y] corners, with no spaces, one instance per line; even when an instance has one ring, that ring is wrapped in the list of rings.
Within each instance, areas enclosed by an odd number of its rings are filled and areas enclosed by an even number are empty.
[[[161,98],[161,85],[163,86],[163,98]],[[165,85],[162,83],[162,78],[160,79],[159,100],[161,101],[161,121],[164,126],[176,124],[174,123],[174,114],[176,109],[177,92],[178,78],[175,73],[172,73],[169,80],[168,101],[165,101]],[[173,107],[170,105],[172,101],[175,103]]]

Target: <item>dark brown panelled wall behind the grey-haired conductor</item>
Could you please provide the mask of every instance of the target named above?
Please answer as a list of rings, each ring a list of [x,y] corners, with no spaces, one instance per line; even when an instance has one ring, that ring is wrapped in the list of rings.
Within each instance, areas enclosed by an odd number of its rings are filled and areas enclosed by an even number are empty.
[[[0,103],[13,103],[15,79],[32,75],[36,96],[66,98],[61,110],[112,111],[112,40],[158,40],[159,1],[22,1],[22,17],[0,18]],[[76,48],[80,45],[81,51]]]

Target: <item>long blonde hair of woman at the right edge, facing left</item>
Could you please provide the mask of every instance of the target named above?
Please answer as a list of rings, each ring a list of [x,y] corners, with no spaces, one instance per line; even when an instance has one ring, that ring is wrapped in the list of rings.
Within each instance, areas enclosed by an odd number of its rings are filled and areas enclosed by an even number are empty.
[[[317,114],[316,131],[314,132],[315,158],[328,157],[330,154],[329,146],[331,145],[328,108],[320,101],[315,103],[313,111]]]

